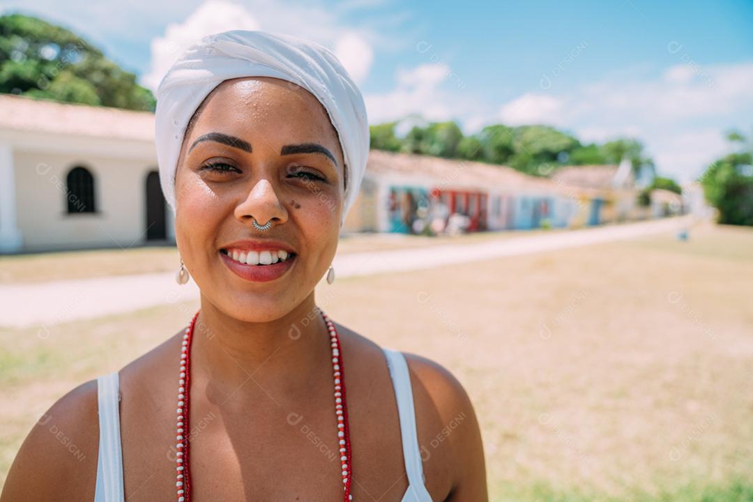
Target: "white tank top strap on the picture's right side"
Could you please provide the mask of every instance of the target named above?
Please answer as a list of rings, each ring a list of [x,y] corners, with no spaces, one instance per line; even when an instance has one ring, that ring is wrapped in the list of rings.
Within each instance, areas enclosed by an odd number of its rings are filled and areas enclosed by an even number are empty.
[[[421,451],[416,432],[416,409],[413,405],[413,389],[410,385],[410,372],[405,356],[401,351],[383,348],[387,357],[387,367],[395,388],[400,417],[400,433],[403,443],[405,472],[408,476],[408,491],[403,500],[431,500],[424,485]]]

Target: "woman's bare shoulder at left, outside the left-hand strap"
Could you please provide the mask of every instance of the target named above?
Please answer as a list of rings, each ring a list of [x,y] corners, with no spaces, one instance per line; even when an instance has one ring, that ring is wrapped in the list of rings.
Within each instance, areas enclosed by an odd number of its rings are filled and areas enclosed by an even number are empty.
[[[0,500],[93,500],[99,447],[97,382],[69,391],[32,427]]]

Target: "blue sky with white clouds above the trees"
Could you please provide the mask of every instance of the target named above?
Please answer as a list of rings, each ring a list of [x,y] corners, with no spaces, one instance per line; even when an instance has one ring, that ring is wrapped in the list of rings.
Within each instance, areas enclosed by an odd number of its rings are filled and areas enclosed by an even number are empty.
[[[333,48],[370,121],[421,114],[548,123],[582,141],[633,136],[690,181],[753,135],[753,2],[5,2],[74,29],[156,87],[207,32],[265,29]]]

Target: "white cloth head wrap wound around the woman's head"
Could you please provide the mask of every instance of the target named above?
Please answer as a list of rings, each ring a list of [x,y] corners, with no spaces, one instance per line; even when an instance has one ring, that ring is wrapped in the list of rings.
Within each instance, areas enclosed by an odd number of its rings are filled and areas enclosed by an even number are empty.
[[[361,92],[340,61],[319,44],[279,33],[233,30],[189,47],[157,88],[156,143],[160,184],[175,212],[175,170],[188,120],[222,81],[273,77],[297,84],[322,103],[345,158],[342,227],[366,170],[369,126]]]

